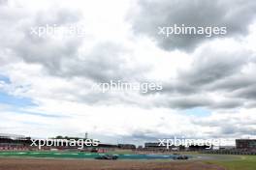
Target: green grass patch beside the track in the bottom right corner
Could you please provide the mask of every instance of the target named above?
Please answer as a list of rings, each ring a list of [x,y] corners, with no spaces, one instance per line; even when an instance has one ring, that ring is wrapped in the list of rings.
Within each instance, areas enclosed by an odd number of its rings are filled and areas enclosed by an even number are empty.
[[[256,170],[256,156],[237,156],[234,160],[207,160],[227,170]]]

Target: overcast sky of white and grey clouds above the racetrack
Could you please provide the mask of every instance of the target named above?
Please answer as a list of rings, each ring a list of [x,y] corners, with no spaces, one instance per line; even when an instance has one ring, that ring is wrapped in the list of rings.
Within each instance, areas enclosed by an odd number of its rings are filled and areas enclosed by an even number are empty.
[[[82,36],[31,28],[82,26]],[[163,38],[158,27],[224,26]],[[256,137],[256,1],[0,0],[0,133],[143,143]],[[163,90],[94,91],[95,83]]]

